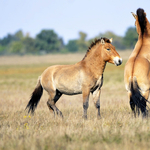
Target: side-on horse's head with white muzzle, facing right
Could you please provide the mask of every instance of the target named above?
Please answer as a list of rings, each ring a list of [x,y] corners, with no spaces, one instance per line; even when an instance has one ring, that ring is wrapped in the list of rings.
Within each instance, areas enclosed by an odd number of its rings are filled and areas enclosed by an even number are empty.
[[[111,44],[112,39],[101,39],[101,46],[102,46],[102,57],[105,62],[109,62],[112,64],[115,64],[116,66],[119,66],[122,64],[122,58],[117,53],[115,47]]]

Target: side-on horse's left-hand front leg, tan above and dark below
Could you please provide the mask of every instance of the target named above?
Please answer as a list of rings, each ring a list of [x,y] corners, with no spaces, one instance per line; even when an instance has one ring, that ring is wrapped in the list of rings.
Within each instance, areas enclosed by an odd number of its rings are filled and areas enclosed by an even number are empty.
[[[89,107],[90,90],[84,89],[82,91],[82,95],[83,95],[83,118],[87,119],[87,109]]]

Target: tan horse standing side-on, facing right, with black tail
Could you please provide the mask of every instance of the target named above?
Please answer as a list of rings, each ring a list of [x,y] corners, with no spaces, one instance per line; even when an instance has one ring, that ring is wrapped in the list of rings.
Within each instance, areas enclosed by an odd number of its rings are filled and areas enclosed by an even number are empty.
[[[100,117],[100,91],[103,84],[103,72],[106,63],[116,66],[122,63],[122,59],[111,44],[112,40],[101,38],[92,42],[85,57],[74,65],[55,65],[47,68],[39,77],[37,86],[32,93],[26,108],[28,112],[34,112],[43,89],[48,92],[47,105],[53,110],[54,115],[62,116],[55,103],[62,94],[83,95],[83,118],[87,118],[89,95],[92,93],[94,104]]]

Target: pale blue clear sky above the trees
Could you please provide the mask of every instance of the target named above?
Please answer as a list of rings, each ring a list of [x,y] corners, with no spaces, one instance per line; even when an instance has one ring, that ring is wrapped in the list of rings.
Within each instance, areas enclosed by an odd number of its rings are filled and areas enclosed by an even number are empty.
[[[80,31],[87,39],[106,31],[124,36],[138,8],[150,21],[150,0],[0,0],[0,38],[18,30],[35,37],[43,29],[54,30],[65,43]]]

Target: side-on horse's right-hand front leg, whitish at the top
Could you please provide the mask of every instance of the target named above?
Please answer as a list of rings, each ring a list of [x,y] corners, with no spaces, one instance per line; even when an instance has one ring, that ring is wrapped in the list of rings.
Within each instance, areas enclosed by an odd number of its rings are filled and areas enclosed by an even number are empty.
[[[100,119],[100,88],[97,88],[92,94],[93,94],[93,101],[95,104],[95,107],[97,108],[97,119]]]

